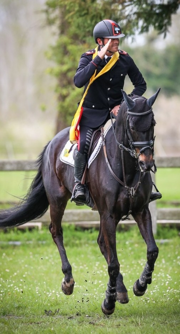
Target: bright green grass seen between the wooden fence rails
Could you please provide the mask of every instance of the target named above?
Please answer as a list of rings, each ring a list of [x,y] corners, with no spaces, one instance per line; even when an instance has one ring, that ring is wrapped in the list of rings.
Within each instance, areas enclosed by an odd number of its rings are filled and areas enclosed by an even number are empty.
[[[1,171],[0,202],[13,202],[17,200],[13,196],[22,196],[26,194],[34,175],[34,171]],[[156,174],[156,185],[163,195],[162,199],[156,202],[157,206],[162,207],[176,205],[180,207],[180,168],[158,168],[158,172]],[[67,208],[77,208],[77,206],[69,202]]]

